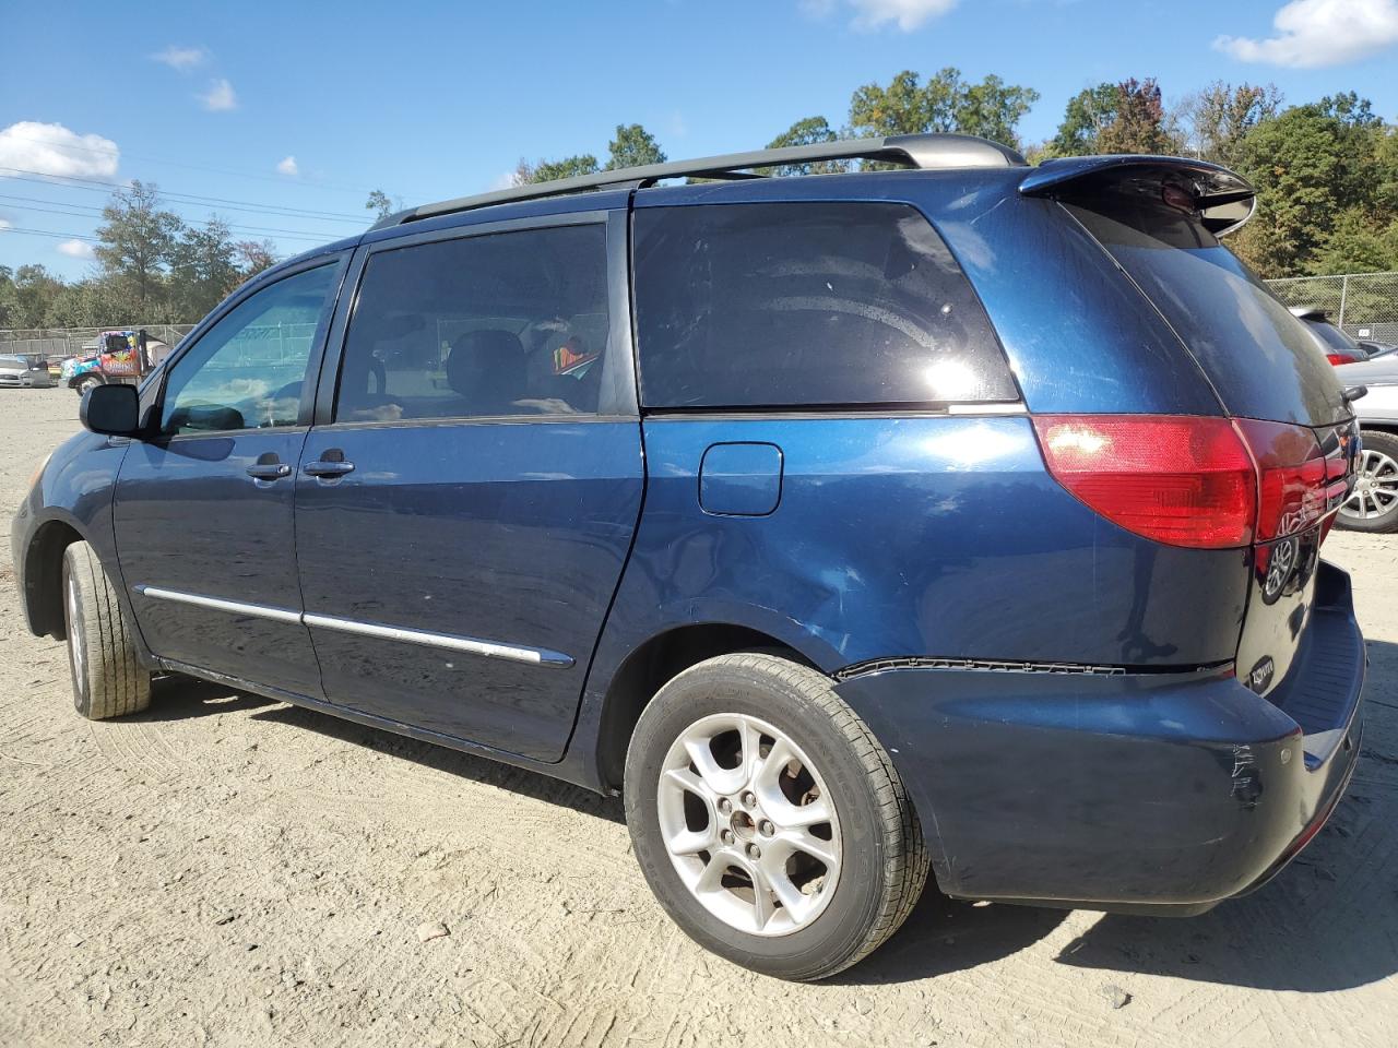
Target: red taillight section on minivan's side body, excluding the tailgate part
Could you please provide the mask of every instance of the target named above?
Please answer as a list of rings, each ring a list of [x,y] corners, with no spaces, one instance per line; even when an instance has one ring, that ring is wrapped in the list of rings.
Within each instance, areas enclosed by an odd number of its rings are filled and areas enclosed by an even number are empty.
[[[1186,415],[1039,415],[1057,481],[1127,531],[1174,546],[1253,541],[1257,471],[1233,423]]]

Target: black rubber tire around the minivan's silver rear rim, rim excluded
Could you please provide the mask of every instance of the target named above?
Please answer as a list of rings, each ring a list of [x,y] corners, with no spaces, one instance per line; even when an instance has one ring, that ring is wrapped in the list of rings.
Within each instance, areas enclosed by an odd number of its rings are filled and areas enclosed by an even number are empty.
[[[713,715],[765,721],[825,781],[840,826],[839,876],[823,908],[795,931],[756,935],[720,919],[671,861],[658,801],[664,762],[682,734]],[[850,967],[898,931],[927,880],[917,813],[888,752],[829,678],[776,655],[720,655],[661,687],[632,735],[624,794],[636,858],[670,917],[700,946],[768,975],[807,981]]]

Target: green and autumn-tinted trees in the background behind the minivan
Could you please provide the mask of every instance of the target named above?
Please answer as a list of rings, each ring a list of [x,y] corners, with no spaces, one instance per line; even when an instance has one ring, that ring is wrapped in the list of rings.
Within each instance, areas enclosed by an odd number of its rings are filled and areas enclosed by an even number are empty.
[[[1264,277],[1398,270],[1398,129],[1355,92],[1288,105],[1271,84],[1219,81],[1166,105],[1153,78],[1128,78],[1083,88],[1051,138],[1026,143],[1019,123],[1037,101],[1033,88],[995,75],[970,81],[951,67],[925,78],[903,70],[886,84],[858,87],[842,122],[804,117],[768,147],[958,131],[1015,145],[1032,163],[1111,152],[1197,157],[1257,186],[1257,215],[1227,245]],[[618,124],[604,157],[520,159],[513,182],[665,159],[642,124]],[[777,173],[850,168],[828,161]],[[365,203],[376,218],[398,205],[383,190]],[[62,281],[42,265],[0,267],[0,328],[189,323],[275,261],[271,242],[235,240],[218,218],[187,225],[141,182],[112,194],[95,236],[96,272],[80,281]]]

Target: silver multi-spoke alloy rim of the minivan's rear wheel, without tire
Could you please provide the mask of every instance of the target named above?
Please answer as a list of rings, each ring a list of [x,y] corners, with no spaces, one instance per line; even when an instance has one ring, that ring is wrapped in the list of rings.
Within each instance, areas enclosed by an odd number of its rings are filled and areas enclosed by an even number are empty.
[[[840,823],[821,773],[786,734],[717,714],[675,739],[657,787],[660,833],[685,887],[749,935],[790,935],[840,876]]]

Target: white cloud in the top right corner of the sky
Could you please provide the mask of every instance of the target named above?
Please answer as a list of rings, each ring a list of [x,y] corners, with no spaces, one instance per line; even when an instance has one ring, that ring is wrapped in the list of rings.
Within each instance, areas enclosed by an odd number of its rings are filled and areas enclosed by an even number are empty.
[[[1292,68],[1339,66],[1398,43],[1398,0],[1292,0],[1272,18],[1275,36],[1219,36],[1213,48],[1239,61]]]

